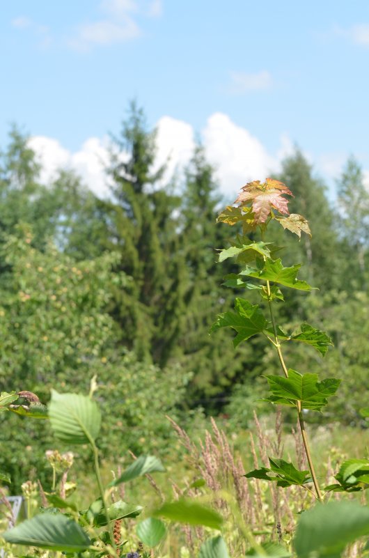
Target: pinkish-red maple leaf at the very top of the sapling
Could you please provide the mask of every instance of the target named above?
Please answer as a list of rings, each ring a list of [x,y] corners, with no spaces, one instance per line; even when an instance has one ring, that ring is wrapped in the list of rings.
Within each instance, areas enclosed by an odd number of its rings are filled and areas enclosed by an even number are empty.
[[[283,197],[282,194],[293,196],[290,189],[273,178],[267,178],[265,183],[260,183],[260,180],[254,180],[247,183],[243,188],[240,195],[235,200],[240,206],[252,201],[252,211],[255,214],[255,223],[265,223],[272,211],[272,208],[285,215],[289,215],[288,199]]]

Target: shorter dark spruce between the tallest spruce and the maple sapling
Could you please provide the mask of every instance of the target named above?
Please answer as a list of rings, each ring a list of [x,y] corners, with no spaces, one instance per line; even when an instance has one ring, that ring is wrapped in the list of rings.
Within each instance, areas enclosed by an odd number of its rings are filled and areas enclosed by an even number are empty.
[[[180,339],[186,366],[194,372],[189,390],[191,400],[207,410],[219,410],[228,401],[230,388],[239,375],[252,374],[256,348],[240,348],[235,359],[229,339],[209,336],[214,311],[231,309],[232,295],[221,286],[223,275],[234,272],[229,260],[217,263],[214,247],[223,246],[228,227],[216,225],[221,198],[214,169],[207,163],[202,146],[197,146],[185,173],[182,197],[182,249],[186,255],[188,287],[185,295],[186,327]],[[244,357],[242,359],[242,357]]]

